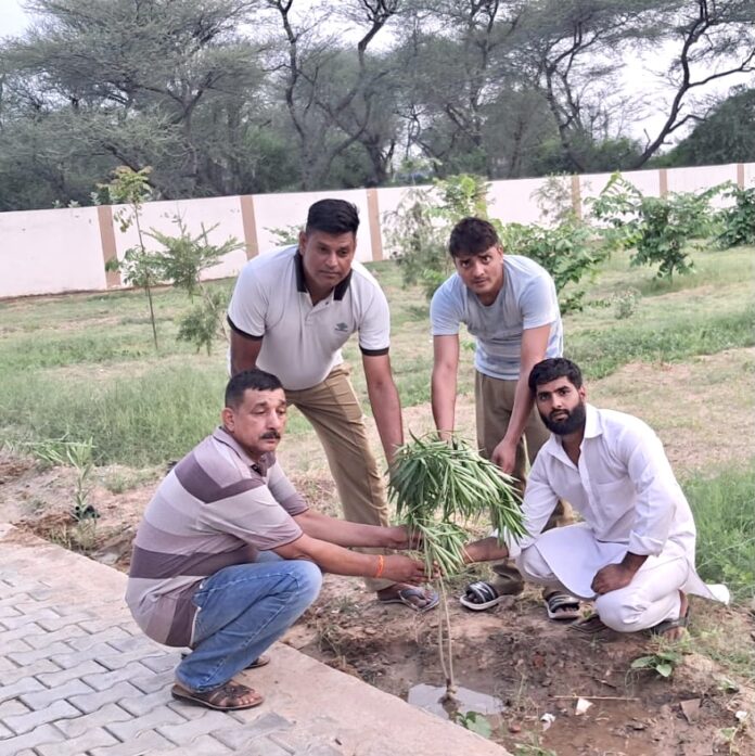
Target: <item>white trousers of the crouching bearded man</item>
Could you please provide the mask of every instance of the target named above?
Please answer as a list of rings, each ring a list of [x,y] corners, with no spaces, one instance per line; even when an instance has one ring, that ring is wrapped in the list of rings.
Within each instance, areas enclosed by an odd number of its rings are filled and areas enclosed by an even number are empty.
[[[525,580],[570,592],[559,582],[537,544],[522,551],[516,559],[516,566]],[[687,582],[688,576],[689,563],[686,559],[658,560],[651,556],[625,588],[597,598],[579,598],[593,599],[601,620],[613,630],[637,632],[679,616],[679,590]]]

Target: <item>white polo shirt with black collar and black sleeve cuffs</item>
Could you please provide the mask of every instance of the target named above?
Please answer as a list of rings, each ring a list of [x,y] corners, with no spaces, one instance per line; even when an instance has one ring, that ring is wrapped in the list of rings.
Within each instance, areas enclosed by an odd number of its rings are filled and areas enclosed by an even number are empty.
[[[295,246],[243,267],[228,322],[242,336],[263,339],[257,367],[292,390],[323,381],[343,362],[341,347],[355,332],[364,355],[385,355],[391,342],[388,302],[368,270],[355,260],[348,277],[312,306]]]

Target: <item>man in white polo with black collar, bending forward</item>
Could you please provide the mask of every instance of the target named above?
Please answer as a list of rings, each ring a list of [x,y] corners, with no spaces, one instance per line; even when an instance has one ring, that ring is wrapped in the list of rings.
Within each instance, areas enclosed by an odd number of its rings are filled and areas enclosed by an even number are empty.
[[[388,357],[385,294],[354,256],[359,216],[343,200],[316,202],[298,246],[261,255],[241,271],[228,322],[231,374],[278,375],[286,399],[315,427],[347,520],[387,525],[385,487],[341,347],[358,332],[367,390],[388,463],[404,441],[401,407]],[[412,586],[368,580],[385,603],[425,611],[437,597]]]

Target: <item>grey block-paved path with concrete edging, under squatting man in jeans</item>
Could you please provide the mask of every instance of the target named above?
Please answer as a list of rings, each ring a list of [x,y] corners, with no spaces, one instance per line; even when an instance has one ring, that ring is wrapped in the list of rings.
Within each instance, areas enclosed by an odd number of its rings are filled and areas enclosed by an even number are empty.
[[[0,525],[0,756],[506,756],[286,645],[223,714],[174,701],[178,651],[123,600],[126,576]]]

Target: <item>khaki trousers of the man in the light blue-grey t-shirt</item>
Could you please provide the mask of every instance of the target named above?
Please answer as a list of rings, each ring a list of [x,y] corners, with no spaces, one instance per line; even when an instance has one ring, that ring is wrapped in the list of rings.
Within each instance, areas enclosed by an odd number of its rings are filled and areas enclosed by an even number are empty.
[[[506,436],[514,408],[516,381],[502,381],[481,372],[474,380],[474,407],[477,425],[477,446],[488,459],[500,440]],[[537,407],[527,418],[524,433],[516,445],[516,461],[512,475],[520,482],[517,488],[524,495],[527,484],[527,472],[540,451],[540,447],[550,438],[550,432],[542,424]],[[559,501],[543,530],[552,527],[568,525],[574,522],[572,507],[566,501]],[[512,561],[496,564],[492,571],[506,581],[517,584],[515,588],[524,587],[522,575]],[[502,587],[502,586],[501,586]]]

